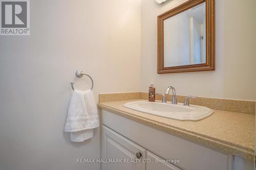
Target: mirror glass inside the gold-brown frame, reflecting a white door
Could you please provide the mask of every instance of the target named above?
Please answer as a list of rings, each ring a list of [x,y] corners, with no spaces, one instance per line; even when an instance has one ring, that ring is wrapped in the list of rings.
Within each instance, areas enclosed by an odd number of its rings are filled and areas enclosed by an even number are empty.
[[[205,3],[164,20],[164,67],[206,63]]]

